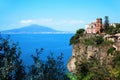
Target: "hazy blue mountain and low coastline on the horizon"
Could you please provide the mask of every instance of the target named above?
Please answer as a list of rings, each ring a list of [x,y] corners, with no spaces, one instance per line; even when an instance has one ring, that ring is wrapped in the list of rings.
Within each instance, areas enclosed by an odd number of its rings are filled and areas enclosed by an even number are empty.
[[[32,24],[19,29],[0,31],[1,34],[72,34],[70,31],[59,31],[46,26]]]

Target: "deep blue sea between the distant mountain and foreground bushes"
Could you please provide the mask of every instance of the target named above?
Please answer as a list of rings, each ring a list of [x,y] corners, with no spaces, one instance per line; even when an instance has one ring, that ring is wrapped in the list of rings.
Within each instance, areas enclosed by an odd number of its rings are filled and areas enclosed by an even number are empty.
[[[50,52],[54,56],[59,56],[63,53],[65,65],[72,55],[72,47],[69,45],[69,40],[73,34],[11,34],[10,39],[19,43],[22,54],[21,58],[25,65],[31,65],[33,60],[31,55],[36,55],[36,49],[44,48],[40,55],[42,60],[46,60],[46,56]]]

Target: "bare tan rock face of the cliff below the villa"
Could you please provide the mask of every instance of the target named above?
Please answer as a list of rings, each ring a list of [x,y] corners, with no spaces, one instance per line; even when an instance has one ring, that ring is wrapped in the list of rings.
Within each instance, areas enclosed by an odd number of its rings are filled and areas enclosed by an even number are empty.
[[[102,61],[107,56],[107,51],[111,48],[112,44],[104,44],[104,45],[86,45],[85,40],[91,37],[95,37],[96,35],[87,34],[81,37],[77,44],[72,45],[72,57],[70,58],[67,68],[70,72],[76,72],[76,61],[82,62],[84,59],[89,60],[90,57],[98,57],[102,63]]]

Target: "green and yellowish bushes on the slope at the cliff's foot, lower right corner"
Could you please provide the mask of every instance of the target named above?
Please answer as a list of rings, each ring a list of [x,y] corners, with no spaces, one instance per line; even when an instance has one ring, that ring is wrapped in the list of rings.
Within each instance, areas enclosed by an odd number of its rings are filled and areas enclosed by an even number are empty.
[[[120,80],[120,52],[112,54],[112,64],[108,65],[107,57],[102,62],[100,57],[92,56],[89,60],[77,63],[77,72],[73,76],[77,80]]]

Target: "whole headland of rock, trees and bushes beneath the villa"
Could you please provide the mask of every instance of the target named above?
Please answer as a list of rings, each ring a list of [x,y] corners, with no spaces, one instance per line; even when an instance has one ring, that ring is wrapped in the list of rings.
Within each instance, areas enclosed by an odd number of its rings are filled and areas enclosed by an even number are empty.
[[[95,34],[79,29],[70,44],[72,56],[67,68],[76,80],[120,79],[120,33]]]

